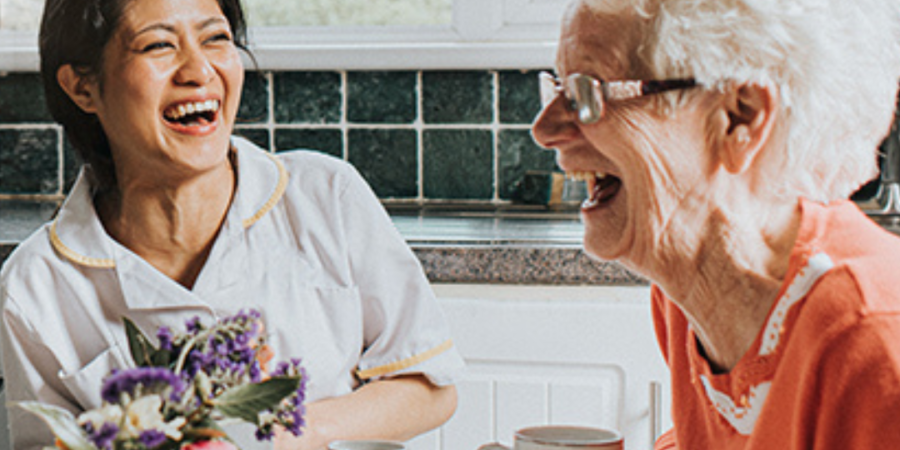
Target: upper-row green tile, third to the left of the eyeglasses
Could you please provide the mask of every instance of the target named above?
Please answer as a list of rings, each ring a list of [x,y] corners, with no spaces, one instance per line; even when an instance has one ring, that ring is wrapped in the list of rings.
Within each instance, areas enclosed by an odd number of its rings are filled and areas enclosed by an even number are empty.
[[[348,72],[347,120],[412,123],[416,120],[415,72]]]

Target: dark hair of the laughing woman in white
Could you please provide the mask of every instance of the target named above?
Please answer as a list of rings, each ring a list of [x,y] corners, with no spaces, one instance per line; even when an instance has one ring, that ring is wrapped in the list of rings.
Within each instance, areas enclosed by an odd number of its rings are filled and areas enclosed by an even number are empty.
[[[97,77],[102,87],[103,50],[132,1],[46,0],[41,19],[41,77],[47,107],[78,155],[90,165],[91,182],[97,192],[117,189],[106,133],[95,114],[82,111],[62,90],[56,73],[71,64],[80,75]],[[247,51],[247,26],[240,0],[217,1],[231,26],[235,45]]]

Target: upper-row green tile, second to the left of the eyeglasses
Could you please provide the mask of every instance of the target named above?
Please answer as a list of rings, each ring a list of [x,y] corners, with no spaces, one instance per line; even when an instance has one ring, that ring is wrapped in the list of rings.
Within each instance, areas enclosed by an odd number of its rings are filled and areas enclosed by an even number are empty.
[[[491,123],[494,77],[484,71],[422,73],[425,123]]]

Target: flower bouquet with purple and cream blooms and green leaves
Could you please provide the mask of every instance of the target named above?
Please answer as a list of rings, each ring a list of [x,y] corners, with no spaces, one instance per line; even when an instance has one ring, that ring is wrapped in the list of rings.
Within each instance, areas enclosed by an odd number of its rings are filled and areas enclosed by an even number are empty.
[[[256,438],[271,439],[275,425],[299,436],[306,376],[300,361],[271,372],[256,311],[240,312],[206,327],[199,318],[174,334],[161,327],[154,346],[127,318],[136,367],[114,370],[103,381],[103,404],[77,417],[40,402],[19,406],[40,416],[68,450],[234,448],[221,425],[244,420]]]

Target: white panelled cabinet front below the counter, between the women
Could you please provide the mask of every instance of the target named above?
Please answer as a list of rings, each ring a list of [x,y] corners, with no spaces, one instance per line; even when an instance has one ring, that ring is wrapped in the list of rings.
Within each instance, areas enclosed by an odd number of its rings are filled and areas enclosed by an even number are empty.
[[[651,382],[668,392],[649,288],[436,285],[468,363],[456,415],[413,450],[509,444],[538,424],[614,428],[652,448]],[[668,402],[659,403],[670,426]]]

